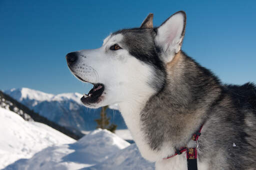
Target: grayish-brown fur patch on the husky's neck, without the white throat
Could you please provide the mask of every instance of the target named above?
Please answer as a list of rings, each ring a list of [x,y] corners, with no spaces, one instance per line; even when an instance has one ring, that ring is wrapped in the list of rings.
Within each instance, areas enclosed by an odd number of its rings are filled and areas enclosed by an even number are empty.
[[[203,111],[220,95],[215,77],[203,75],[204,72],[197,70],[196,64],[182,54],[180,60],[173,73],[166,77],[163,90],[152,96],[141,112],[143,129],[153,150],[159,150],[168,140],[176,144],[173,146],[176,149],[186,146],[206,119]]]

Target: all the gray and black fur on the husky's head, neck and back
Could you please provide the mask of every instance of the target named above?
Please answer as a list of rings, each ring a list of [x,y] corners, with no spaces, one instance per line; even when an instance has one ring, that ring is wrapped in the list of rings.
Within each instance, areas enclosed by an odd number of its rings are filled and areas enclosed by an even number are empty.
[[[124,29],[116,33],[124,36],[131,55],[155,68],[149,84],[157,93],[140,113],[142,130],[152,150],[160,150],[168,141],[175,149],[186,146],[203,124],[198,140],[199,162],[206,162],[209,170],[256,168],[253,84],[222,85],[209,70],[182,51],[176,54],[174,65],[164,67],[153,42],[155,29]],[[246,100],[248,96],[250,101]]]

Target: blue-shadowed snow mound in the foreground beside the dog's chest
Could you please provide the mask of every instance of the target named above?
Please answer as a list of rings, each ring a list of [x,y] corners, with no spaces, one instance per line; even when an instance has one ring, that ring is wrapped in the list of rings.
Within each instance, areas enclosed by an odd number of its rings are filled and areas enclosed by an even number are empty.
[[[106,130],[95,130],[73,144],[46,148],[31,159],[18,160],[4,170],[153,170],[135,144]]]

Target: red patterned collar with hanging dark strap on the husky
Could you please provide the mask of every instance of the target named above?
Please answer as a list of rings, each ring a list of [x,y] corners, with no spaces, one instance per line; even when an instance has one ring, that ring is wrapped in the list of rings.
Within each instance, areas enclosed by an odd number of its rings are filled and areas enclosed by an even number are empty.
[[[197,151],[196,151],[196,149],[198,148],[198,145],[199,145],[197,140],[198,140],[199,136],[201,135],[202,126],[200,127],[199,131],[197,131],[195,134],[193,134],[193,136],[191,138],[191,140],[196,141],[196,143],[197,143],[196,148],[182,147],[179,150],[176,150],[175,154],[173,154],[171,156],[168,156],[166,158],[163,158],[163,160],[167,160],[167,159],[172,158],[176,155],[180,155],[183,152],[186,152],[186,160],[187,160],[188,170],[197,170],[197,162],[196,162]]]

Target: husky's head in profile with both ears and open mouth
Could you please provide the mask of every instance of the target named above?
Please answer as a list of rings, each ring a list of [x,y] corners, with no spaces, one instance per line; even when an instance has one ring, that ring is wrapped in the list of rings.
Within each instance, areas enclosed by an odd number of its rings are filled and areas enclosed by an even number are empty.
[[[176,12],[155,28],[152,17],[149,14],[139,28],[110,34],[100,48],[66,55],[72,74],[94,85],[81,98],[85,106],[139,101],[163,88],[165,65],[180,51],[185,13]]]

